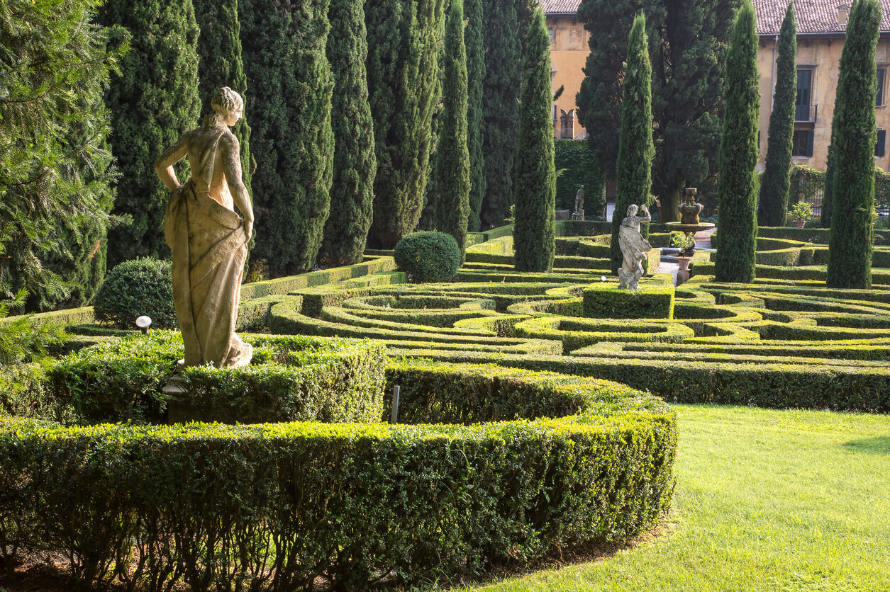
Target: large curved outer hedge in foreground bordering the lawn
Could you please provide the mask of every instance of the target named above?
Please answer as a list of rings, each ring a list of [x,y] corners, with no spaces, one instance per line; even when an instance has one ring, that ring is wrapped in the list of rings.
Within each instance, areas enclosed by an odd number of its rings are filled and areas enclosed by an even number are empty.
[[[0,418],[0,552],[85,588],[339,589],[473,576],[621,540],[669,508],[676,416],[598,380],[398,364],[403,418],[61,428]],[[537,417],[538,419],[533,419]],[[7,560],[12,558],[7,557]]]

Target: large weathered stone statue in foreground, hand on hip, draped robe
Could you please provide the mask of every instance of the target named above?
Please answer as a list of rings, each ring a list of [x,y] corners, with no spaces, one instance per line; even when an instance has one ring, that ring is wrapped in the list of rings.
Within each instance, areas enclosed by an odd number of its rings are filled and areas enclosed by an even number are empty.
[[[164,235],[173,249],[174,304],[185,343],[180,364],[239,367],[250,363],[254,351],[235,334],[247,241],[254,228],[239,142],[229,130],[241,117],[244,100],[225,86],[211,106],[214,112],[198,129],[166,148],[155,171],[172,191]],[[185,156],[191,178],[180,185],[173,165]]]

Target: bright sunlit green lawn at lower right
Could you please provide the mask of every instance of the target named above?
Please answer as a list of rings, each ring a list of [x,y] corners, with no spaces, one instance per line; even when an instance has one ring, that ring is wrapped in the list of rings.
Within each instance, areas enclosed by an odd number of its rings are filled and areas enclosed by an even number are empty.
[[[472,590],[890,590],[890,417],[676,405],[670,533]]]

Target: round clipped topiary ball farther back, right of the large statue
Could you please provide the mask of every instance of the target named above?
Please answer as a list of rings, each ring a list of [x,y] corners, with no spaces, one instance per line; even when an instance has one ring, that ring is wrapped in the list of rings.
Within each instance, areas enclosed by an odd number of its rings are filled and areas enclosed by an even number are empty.
[[[460,248],[451,235],[444,232],[415,232],[395,245],[395,264],[408,274],[409,280],[448,282],[460,266]]]

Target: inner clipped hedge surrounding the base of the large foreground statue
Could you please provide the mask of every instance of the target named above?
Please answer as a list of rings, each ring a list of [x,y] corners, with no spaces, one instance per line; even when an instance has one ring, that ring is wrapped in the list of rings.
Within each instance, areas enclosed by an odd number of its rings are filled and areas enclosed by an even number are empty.
[[[190,366],[182,372],[188,404],[200,410],[194,412],[198,417],[249,423],[380,416],[381,344],[272,336],[247,340],[255,345],[255,355],[246,368]],[[169,405],[185,404],[161,392],[182,353],[178,332],[101,343],[56,362],[47,388],[77,422],[163,423]]]

